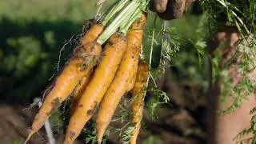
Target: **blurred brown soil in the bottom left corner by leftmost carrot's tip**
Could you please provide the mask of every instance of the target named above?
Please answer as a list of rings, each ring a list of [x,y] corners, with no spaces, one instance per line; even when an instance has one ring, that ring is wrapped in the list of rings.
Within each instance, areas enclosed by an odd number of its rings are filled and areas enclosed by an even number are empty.
[[[24,142],[30,132],[30,116],[21,106],[0,105],[0,143]],[[29,119],[29,120],[28,120]],[[45,134],[34,134],[30,143],[46,143]]]

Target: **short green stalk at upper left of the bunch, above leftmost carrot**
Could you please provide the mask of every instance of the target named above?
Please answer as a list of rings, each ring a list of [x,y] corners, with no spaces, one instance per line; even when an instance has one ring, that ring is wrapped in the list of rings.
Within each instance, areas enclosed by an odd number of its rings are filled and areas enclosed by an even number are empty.
[[[114,17],[115,14],[117,14],[120,10],[122,10],[123,6],[126,5],[126,2],[129,0],[120,0],[118,3],[116,3],[113,8],[110,10],[108,14],[106,14],[106,17],[102,21],[102,25],[106,26],[107,22],[110,21],[111,18]]]

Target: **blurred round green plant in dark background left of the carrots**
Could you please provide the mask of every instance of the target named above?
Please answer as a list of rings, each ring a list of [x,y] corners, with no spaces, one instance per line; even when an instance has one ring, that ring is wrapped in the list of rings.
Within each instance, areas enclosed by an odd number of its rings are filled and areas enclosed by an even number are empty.
[[[35,67],[40,59],[47,57],[46,54],[42,53],[40,43],[35,38],[9,38],[7,39],[7,45],[16,54],[11,55],[11,58],[9,57],[10,61],[8,57],[4,58],[3,65],[10,66],[6,68],[6,71],[13,72],[17,78],[26,76],[28,70]]]

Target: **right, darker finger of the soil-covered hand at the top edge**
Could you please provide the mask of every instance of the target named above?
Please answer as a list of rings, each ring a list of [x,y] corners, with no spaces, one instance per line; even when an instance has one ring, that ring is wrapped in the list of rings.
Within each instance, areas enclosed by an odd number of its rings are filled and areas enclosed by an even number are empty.
[[[186,0],[169,0],[166,11],[163,13],[158,13],[158,16],[166,20],[182,18],[185,6]]]

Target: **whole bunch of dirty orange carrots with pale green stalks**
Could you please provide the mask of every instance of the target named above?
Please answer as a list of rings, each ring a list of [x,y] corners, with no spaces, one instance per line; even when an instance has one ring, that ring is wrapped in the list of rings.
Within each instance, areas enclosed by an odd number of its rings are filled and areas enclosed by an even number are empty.
[[[26,142],[73,95],[64,143],[73,143],[94,114],[101,143],[118,103],[130,92],[134,97],[130,143],[136,143],[149,73],[139,58],[147,5],[146,0],[120,0],[90,27],[46,94]]]

